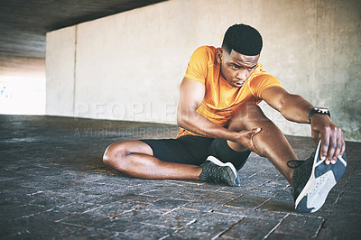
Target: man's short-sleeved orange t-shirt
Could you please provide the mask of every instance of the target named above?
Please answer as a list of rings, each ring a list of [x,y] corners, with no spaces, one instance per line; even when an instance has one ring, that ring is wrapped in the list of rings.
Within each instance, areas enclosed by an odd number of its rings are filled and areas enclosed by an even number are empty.
[[[257,64],[252,75],[245,81],[242,88],[229,85],[220,74],[220,64],[216,59],[217,48],[202,46],[193,52],[185,78],[202,82],[206,93],[197,112],[216,125],[227,127],[237,110],[246,103],[258,104],[262,101],[261,94],[266,88],[282,87],[280,81]],[[198,135],[180,127],[182,135]]]

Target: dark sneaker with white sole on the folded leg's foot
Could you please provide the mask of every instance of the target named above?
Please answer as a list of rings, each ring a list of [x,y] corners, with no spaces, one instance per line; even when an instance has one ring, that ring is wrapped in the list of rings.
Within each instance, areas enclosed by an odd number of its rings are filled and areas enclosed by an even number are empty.
[[[229,186],[240,186],[238,171],[231,162],[220,162],[217,158],[209,156],[207,161],[200,165],[202,172],[199,180],[211,183],[227,183]]]

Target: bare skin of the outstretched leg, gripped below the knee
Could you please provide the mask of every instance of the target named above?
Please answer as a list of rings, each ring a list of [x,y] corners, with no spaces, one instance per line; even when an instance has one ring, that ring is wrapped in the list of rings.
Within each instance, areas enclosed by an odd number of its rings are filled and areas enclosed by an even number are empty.
[[[292,185],[293,170],[287,166],[287,162],[298,158],[281,130],[264,115],[259,106],[245,106],[229,125],[232,131],[251,130],[256,127],[261,127],[262,131],[253,137],[255,148],[263,157],[268,158]],[[230,141],[227,143],[238,152],[245,151],[244,146]]]

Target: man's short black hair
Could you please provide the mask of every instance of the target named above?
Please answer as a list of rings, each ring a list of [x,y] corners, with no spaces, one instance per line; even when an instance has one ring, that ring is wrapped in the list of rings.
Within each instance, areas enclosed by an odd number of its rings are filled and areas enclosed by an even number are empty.
[[[230,26],[222,43],[222,48],[228,53],[234,50],[246,56],[260,54],[262,46],[261,34],[255,28],[245,24]]]

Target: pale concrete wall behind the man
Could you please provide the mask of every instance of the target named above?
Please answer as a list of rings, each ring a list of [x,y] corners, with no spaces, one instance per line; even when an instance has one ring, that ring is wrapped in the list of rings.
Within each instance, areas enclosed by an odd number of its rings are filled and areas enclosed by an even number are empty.
[[[192,51],[247,23],[264,37],[264,69],[361,141],[360,9],[358,0],[171,0],[48,32],[47,114],[174,124]],[[310,135],[262,107],[285,134]]]

